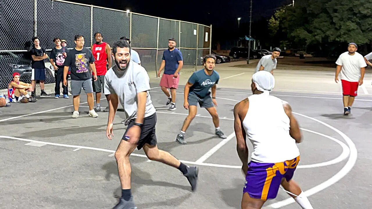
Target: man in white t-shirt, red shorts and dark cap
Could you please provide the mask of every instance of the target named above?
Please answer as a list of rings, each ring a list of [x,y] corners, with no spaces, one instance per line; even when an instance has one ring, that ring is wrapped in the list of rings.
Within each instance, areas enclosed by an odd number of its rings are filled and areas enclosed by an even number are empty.
[[[358,46],[355,43],[350,43],[347,52],[342,53],[336,61],[334,80],[338,83],[341,72],[344,115],[349,115],[351,111],[351,106],[357,96],[358,85],[363,84],[365,67],[367,67],[363,56],[356,52],[357,49]]]

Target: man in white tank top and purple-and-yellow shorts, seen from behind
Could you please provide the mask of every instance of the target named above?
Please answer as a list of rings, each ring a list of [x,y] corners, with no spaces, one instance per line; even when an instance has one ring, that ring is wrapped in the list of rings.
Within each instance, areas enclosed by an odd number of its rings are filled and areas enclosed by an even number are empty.
[[[292,180],[300,160],[296,143],[302,141],[301,132],[291,106],[269,95],[274,84],[271,73],[258,71],[253,74],[253,95],[234,107],[237,152],[246,175],[241,208],[262,208],[267,199],[276,198],[282,185],[295,194],[291,196],[303,209],[312,209],[301,188]],[[254,148],[249,163],[246,137]]]

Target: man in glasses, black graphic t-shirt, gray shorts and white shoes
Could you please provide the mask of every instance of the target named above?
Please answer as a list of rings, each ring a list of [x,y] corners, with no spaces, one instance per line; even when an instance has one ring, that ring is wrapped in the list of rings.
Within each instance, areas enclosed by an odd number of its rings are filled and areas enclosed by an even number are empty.
[[[75,36],[75,48],[71,49],[64,63],[63,69],[63,84],[67,86],[67,73],[68,67],[71,68],[71,93],[74,96],[73,105],[74,113],[73,118],[79,116],[79,103],[80,103],[80,92],[81,88],[84,89],[87,94],[87,102],[89,105],[89,116],[96,118],[98,114],[94,111],[94,97],[93,97],[93,87],[92,87],[92,73],[93,71],[94,81],[97,80],[96,67],[94,66],[94,58],[92,52],[84,47],[84,36]]]

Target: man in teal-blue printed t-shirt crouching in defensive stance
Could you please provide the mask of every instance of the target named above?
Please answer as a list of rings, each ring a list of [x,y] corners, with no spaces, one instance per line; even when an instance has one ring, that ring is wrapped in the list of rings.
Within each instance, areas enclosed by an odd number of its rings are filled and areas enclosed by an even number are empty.
[[[216,107],[216,89],[219,80],[218,73],[213,70],[215,67],[216,57],[206,55],[203,59],[204,69],[194,72],[185,86],[183,107],[189,110],[189,115],[183,122],[181,132],[177,135],[176,142],[187,144],[185,141],[185,132],[191,121],[196,116],[197,105],[204,107],[213,118],[216,127],[215,134],[222,139],[227,138],[219,128],[219,118]],[[209,89],[212,88],[212,98]]]

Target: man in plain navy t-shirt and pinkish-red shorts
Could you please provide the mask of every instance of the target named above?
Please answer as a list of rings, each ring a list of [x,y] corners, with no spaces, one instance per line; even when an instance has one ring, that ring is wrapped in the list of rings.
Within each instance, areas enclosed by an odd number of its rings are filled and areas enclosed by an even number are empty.
[[[168,97],[166,105],[171,104],[168,110],[176,110],[176,89],[180,79],[179,72],[183,66],[182,54],[175,46],[176,40],[170,38],[168,40],[168,50],[163,52],[163,61],[161,61],[158,71],[158,77],[160,77],[160,72],[165,68],[160,80],[160,86],[161,90]],[[171,95],[168,89],[170,89]]]

